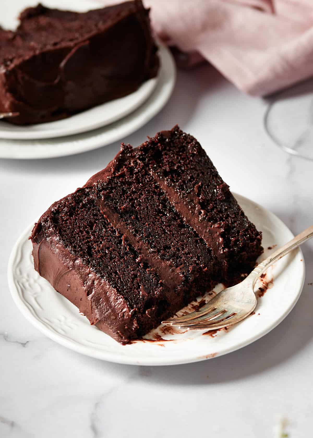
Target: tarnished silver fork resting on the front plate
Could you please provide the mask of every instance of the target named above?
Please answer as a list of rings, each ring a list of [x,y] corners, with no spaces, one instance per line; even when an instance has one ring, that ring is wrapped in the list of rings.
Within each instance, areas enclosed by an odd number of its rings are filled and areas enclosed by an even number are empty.
[[[246,318],[256,307],[254,286],[261,274],[275,261],[313,237],[313,226],[309,226],[270,257],[261,261],[256,268],[235,286],[222,290],[216,297],[199,309],[180,318],[162,321],[162,324],[189,329],[222,329]]]

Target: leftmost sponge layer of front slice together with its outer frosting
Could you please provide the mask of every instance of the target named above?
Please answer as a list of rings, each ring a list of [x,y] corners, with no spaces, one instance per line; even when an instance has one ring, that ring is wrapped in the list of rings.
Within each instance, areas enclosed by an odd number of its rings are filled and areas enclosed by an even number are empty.
[[[120,342],[153,328],[160,313],[182,303],[82,189],[52,208],[33,239],[35,268],[62,295]],[[86,202],[87,201],[87,202]]]

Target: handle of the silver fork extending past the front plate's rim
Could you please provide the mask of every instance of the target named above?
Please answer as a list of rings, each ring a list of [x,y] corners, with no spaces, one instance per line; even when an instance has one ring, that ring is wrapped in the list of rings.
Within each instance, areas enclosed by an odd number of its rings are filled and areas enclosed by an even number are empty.
[[[256,284],[256,280],[260,277],[260,275],[262,275],[267,268],[273,265],[275,261],[284,257],[290,251],[297,248],[299,245],[301,245],[306,240],[309,240],[311,237],[313,237],[313,225],[309,226],[309,228],[302,231],[302,233],[298,234],[298,236],[294,237],[292,240],[290,240],[290,242],[286,243],[283,247],[278,248],[276,251],[274,251],[273,254],[270,255],[270,257],[261,261],[261,263],[257,265],[256,268],[254,268],[253,271],[248,276],[250,277],[250,279],[254,277],[252,286],[254,287],[254,285]]]

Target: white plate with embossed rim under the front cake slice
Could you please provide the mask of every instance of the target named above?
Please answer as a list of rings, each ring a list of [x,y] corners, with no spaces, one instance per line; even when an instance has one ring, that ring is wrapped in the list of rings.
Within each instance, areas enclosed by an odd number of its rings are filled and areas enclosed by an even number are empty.
[[[248,215],[263,232],[263,247],[282,246],[293,235],[273,213],[236,195]],[[46,336],[71,350],[103,360],[135,365],[174,365],[221,356],[252,343],[274,329],[297,302],[305,276],[302,252],[297,249],[267,270],[269,289],[259,298],[254,315],[215,336],[205,330],[164,334],[162,327],[151,332],[164,340],[138,341],[122,346],[79,314],[77,307],[57,293],[34,270],[32,244],[28,240],[33,224],[21,235],[10,257],[8,281],[15,303],[25,317]],[[272,250],[265,250],[261,258]],[[260,287],[263,284],[259,284]],[[257,286],[257,287],[259,287]],[[221,287],[220,287],[221,290]],[[209,297],[209,296],[208,296]],[[189,305],[189,311],[190,311]],[[171,339],[167,341],[167,339]]]

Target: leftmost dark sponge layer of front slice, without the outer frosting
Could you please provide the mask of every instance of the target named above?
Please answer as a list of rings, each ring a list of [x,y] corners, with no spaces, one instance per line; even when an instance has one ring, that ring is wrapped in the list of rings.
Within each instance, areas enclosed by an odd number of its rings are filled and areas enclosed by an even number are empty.
[[[160,277],[105,219],[90,191],[75,192],[61,201],[42,219],[41,227],[46,239],[57,236],[71,254],[125,297],[131,309],[145,312],[166,299],[167,288]]]

